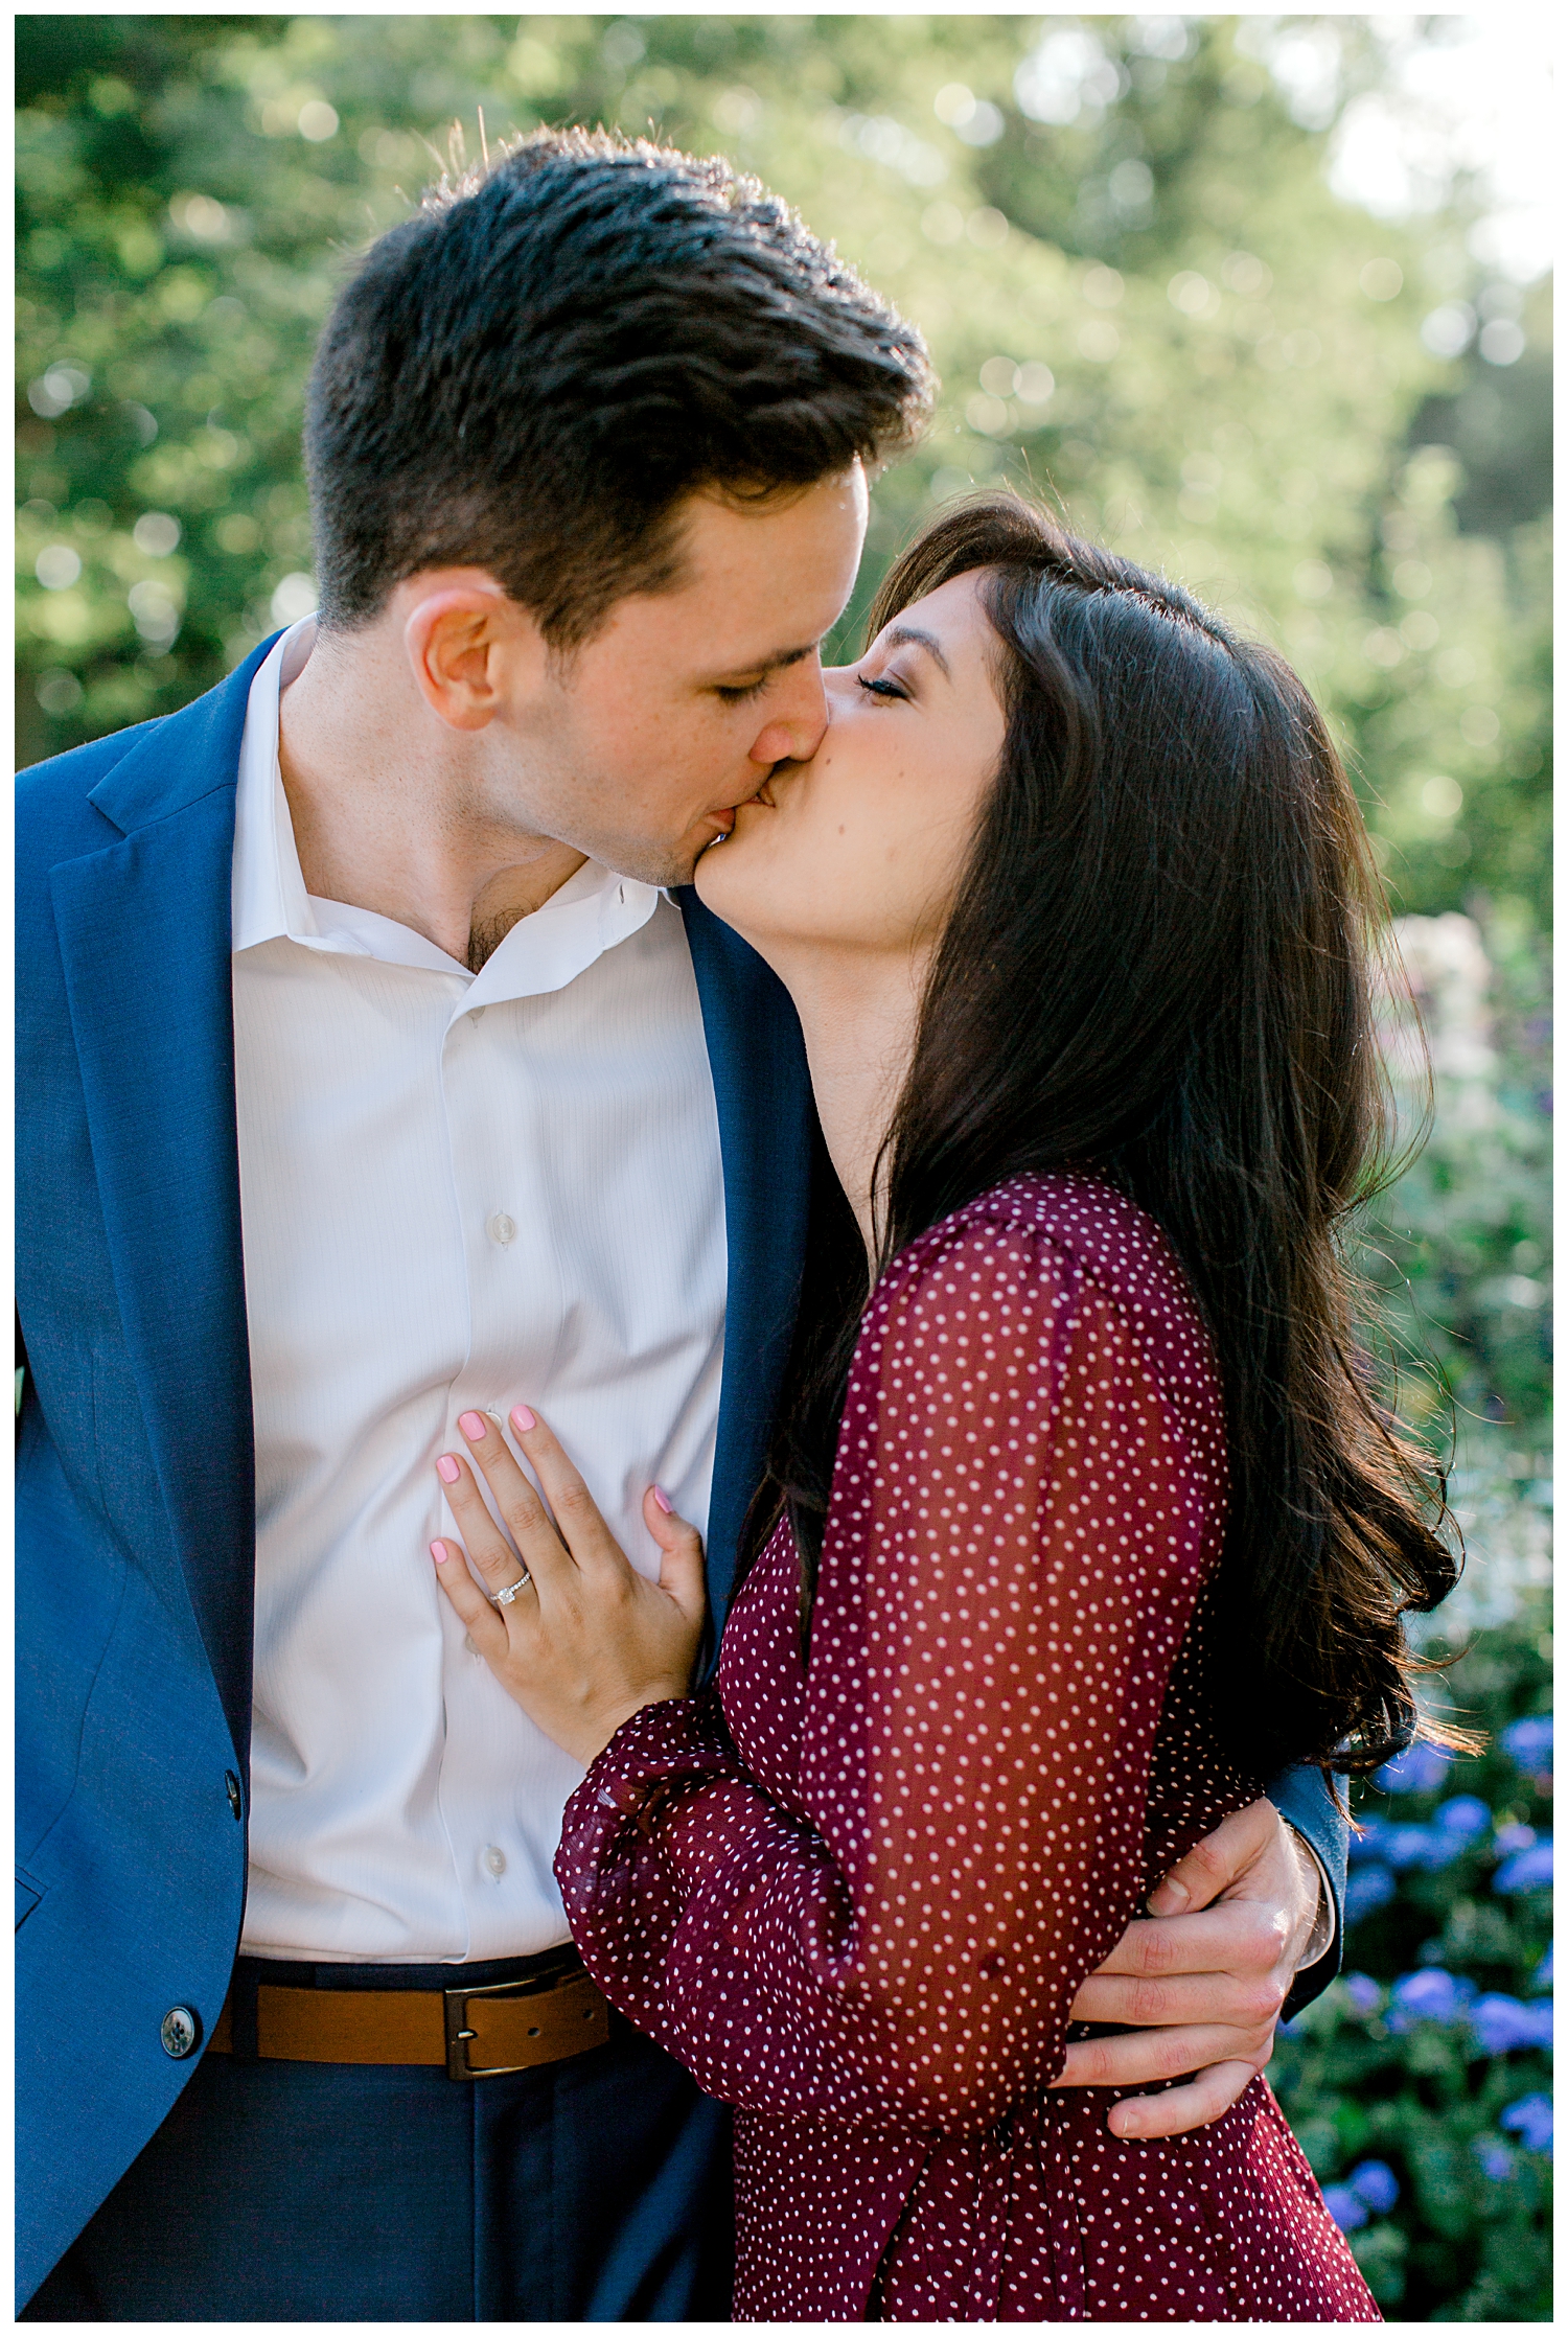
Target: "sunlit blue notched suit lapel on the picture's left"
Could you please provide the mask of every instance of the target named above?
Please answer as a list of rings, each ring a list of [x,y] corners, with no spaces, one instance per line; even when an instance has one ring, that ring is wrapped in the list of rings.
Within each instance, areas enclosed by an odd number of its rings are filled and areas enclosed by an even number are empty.
[[[255,1447],[234,1133],[229,886],[250,678],[145,731],[49,872],[115,1292],[185,1589],[250,1741]]]

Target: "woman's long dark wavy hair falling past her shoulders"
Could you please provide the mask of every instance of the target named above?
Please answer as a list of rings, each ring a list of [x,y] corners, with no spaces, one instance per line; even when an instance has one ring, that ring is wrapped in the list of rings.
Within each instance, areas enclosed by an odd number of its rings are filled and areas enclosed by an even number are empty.
[[[879,1161],[874,1269],[1021,1173],[1087,1171],[1159,1222],[1224,1388],[1215,1727],[1260,1776],[1372,1769],[1416,1725],[1400,1617],[1458,1568],[1346,1257],[1390,1168],[1369,1000],[1386,904],[1360,809],[1274,650],[1021,498],[925,528],[867,638],[972,570],[1007,734]],[[820,1173],[745,1538],[755,1556],[788,1510],[804,1636],[865,1299],[860,1236]]]

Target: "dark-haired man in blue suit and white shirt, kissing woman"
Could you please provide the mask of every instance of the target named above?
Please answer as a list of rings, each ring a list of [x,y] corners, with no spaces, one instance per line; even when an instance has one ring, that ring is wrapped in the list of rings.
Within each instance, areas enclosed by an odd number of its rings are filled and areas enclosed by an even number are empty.
[[[813,753],[928,397],[783,206],[540,136],[327,325],[320,622],[23,783],[28,2318],[727,2309],[722,2113],[575,1970],[577,1771],[437,1596],[432,1463],[542,1398],[640,1563],[650,1482],[706,1526],[722,1624],[811,1101],[664,888]],[[1161,2026],[1073,2082],[1203,2073],[1117,2131],[1267,2057],[1318,1912],[1267,1804],[1157,1912],[1227,1886],[1080,1996]]]

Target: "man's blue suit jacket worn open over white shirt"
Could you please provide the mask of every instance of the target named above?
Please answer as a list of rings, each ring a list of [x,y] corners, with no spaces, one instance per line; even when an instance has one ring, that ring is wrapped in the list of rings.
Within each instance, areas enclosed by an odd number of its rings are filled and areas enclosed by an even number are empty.
[[[19,790],[19,2300],[173,2108],[245,1900],[255,1456],[229,876],[250,678]],[[762,1472],[811,1173],[795,1010],[687,895],[724,1154],[715,1617]],[[1276,1802],[1344,1872],[1313,1771]],[[1318,1984],[1327,1965],[1313,1975]]]

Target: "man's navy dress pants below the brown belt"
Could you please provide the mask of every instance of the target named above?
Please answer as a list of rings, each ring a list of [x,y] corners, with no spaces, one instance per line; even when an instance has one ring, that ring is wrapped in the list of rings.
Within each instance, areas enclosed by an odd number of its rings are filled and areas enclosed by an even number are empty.
[[[731,2269],[729,2113],[612,2012],[472,2085],[208,2054],[21,2318],[727,2321]]]

